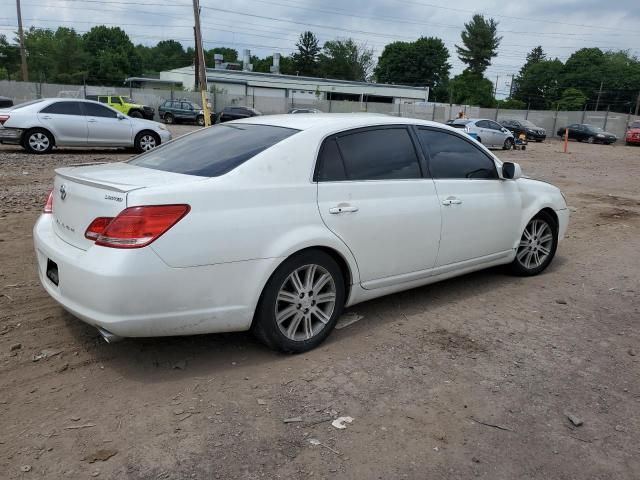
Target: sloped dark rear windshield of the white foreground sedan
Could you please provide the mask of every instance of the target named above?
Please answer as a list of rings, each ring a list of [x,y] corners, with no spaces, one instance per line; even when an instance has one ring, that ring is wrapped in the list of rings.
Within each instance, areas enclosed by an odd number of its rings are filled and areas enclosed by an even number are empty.
[[[165,172],[218,177],[298,131],[271,125],[214,125],[151,150],[129,163]]]

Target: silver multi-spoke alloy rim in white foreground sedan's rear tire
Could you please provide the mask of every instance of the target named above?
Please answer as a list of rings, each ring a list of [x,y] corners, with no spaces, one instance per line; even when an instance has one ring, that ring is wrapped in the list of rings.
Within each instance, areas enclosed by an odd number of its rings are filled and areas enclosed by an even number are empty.
[[[336,285],[320,265],[303,265],[285,279],[278,291],[275,318],[290,340],[304,341],[320,333],[336,306]]]

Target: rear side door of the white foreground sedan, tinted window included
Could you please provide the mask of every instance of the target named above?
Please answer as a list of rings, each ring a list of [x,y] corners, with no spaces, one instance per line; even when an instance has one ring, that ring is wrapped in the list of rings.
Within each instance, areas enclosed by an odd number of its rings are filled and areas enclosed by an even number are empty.
[[[438,253],[440,207],[405,126],[352,130],[323,142],[318,208],[353,253],[364,288],[428,276]]]

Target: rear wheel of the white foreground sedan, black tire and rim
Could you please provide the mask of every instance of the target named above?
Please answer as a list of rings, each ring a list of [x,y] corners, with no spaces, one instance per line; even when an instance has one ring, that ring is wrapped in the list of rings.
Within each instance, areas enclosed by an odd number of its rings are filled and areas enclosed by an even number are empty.
[[[303,251],[285,260],[267,282],[252,331],[272,349],[306,352],[329,336],[344,301],[344,278],[336,261],[318,250]]]

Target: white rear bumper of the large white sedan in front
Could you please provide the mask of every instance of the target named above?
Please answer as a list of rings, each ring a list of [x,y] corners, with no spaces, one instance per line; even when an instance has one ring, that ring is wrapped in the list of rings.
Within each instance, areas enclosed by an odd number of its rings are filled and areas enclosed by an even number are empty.
[[[66,310],[120,337],[247,330],[276,259],[169,267],[150,247],[76,248],[60,239],[52,216],[33,230],[42,286]],[[57,265],[58,285],[47,277]]]

